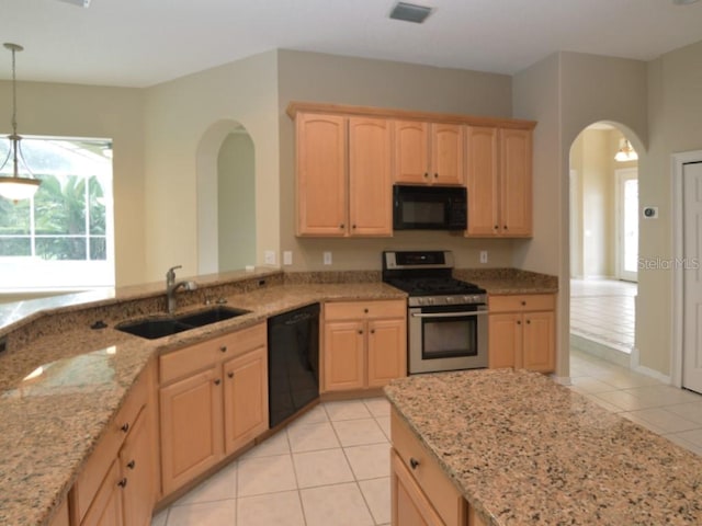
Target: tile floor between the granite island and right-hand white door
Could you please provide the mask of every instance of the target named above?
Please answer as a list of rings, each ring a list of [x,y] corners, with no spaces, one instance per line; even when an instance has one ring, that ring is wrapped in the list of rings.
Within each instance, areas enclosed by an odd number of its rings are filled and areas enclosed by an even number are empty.
[[[570,351],[570,387],[601,407],[702,455],[702,396]]]

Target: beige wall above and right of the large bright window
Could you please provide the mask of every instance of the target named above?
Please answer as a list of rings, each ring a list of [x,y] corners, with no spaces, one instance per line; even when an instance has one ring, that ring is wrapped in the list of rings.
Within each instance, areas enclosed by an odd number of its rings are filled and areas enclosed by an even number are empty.
[[[0,81],[0,100],[11,83]],[[11,133],[11,106],[0,106],[0,134]],[[144,92],[43,82],[18,82],[21,135],[95,137],[113,140],[115,279],[118,286],[145,279]]]

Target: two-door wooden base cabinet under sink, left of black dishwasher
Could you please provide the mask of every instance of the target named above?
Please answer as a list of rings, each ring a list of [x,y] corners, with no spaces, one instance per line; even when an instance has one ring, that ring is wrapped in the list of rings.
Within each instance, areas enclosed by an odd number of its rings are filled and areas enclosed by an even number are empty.
[[[169,494],[268,430],[265,323],[159,363],[161,479]]]

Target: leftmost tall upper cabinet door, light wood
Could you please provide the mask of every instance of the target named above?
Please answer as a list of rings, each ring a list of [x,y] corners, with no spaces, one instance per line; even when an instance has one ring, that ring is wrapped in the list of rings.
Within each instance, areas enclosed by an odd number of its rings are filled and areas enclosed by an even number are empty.
[[[297,126],[297,235],[347,232],[347,119],[299,113]]]

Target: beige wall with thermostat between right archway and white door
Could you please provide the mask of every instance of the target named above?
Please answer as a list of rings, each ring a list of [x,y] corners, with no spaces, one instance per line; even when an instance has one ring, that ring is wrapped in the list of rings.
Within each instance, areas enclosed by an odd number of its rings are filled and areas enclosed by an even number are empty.
[[[672,254],[671,155],[702,149],[702,42],[648,64],[649,150],[639,163],[639,206],[657,206],[659,218],[641,221],[639,258]],[[672,271],[638,273],[636,346],[641,365],[672,375]]]

